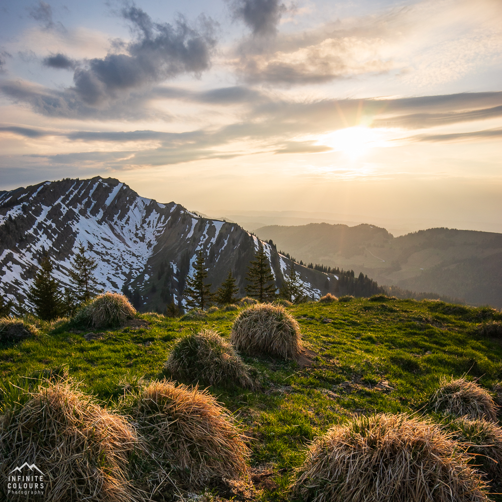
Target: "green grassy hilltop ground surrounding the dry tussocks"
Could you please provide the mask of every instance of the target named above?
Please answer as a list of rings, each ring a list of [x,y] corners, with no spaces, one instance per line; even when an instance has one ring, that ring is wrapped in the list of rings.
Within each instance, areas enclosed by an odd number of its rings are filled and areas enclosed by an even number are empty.
[[[330,426],[360,414],[429,415],[428,399],[443,376],[467,375],[489,391],[502,380],[501,340],[479,329],[502,320],[497,310],[381,296],[305,303],[287,311],[309,349],[302,364],[242,354],[262,388],[208,389],[249,437],[250,465],[262,490],[256,496],[263,500],[288,498],[293,468]],[[0,344],[4,389],[8,381],[22,382],[20,376],[67,365],[83,392],[120,411],[124,382],[169,378],[163,366],[180,336],[212,328],[228,339],[236,314],[221,309],[200,318],[139,314],[126,327],[80,332],[39,322],[36,337]],[[88,334],[93,332],[98,334]]]

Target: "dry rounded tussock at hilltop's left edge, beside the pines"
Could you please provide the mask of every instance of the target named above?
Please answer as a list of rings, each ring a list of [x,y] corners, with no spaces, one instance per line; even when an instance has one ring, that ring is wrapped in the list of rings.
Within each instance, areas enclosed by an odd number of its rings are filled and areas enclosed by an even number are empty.
[[[84,305],[77,312],[75,321],[93,328],[106,328],[121,325],[135,315],[136,309],[127,297],[108,291]]]

